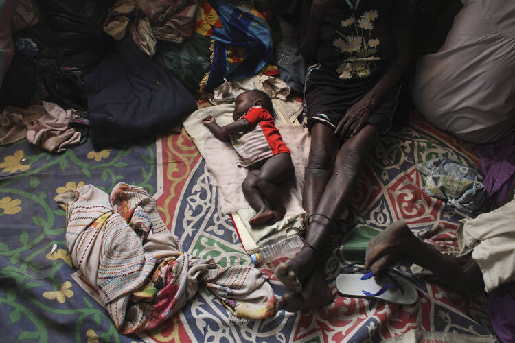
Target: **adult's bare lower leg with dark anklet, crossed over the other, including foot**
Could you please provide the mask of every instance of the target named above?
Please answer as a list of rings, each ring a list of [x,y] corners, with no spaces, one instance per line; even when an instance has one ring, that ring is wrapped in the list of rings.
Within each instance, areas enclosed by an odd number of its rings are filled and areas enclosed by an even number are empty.
[[[374,126],[365,126],[355,137],[345,141],[336,154],[332,174],[320,196],[319,204],[311,213],[312,217],[307,223],[306,241],[308,244],[288,263],[281,263],[275,268],[277,278],[290,292],[300,293],[303,289],[304,279],[312,273],[315,261],[317,261],[317,250],[322,248],[325,239],[328,238],[332,223],[336,222],[347,208],[365,158],[374,145],[377,135],[378,131]],[[313,215],[314,213],[322,215]],[[321,262],[315,269],[323,270],[325,261],[323,259],[318,261]],[[317,275],[319,274],[317,273]],[[319,277],[323,278],[323,274],[321,275]],[[313,282],[319,283],[319,280]],[[328,287],[325,282],[324,284],[325,287]],[[303,294],[303,296],[310,297],[317,296],[317,294]]]

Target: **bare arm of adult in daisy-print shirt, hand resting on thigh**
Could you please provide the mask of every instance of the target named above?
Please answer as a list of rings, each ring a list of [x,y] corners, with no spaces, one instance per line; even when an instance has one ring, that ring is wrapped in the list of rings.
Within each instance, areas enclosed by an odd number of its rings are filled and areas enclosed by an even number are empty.
[[[367,125],[367,120],[380,100],[393,86],[396,86],[402,78],[402,73],[407,67],[409,58],[411,57],[410,32],[410,27],[405,25],[404,27],[400,27],[394,24],[393,36],[396,40],[397,56],[378,80],[374,88],[372,88],[363,99],[351,106],[347,110],[347,113],[345,113],[345,117],[338,123],[334,134],[336,134],[340,140],[358,134],[358,132]]]

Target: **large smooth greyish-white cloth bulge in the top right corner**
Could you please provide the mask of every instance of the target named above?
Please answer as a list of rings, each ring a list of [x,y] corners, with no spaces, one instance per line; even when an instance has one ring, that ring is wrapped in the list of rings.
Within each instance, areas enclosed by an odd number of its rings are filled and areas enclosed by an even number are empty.
[[[420,59],[411,96],[438,128],[492,143],[515,129],[515,1],[463,2],[442,48]]]

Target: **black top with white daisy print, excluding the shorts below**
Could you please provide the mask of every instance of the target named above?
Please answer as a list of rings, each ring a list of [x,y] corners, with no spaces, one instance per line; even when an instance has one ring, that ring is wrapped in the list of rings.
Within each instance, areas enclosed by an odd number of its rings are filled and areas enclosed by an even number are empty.
[[[409,26],[409,1],[361,0],[354,9],[347,2],[351,1],[338,1],[336,8],[325,14],[317,61],[337,77],[345,66],[352,81],[377,77],[396,57],[393,26]],[[367,14],[374,14],[374,19],[368,21]],[[371,29],[363,28],[363,21]]]

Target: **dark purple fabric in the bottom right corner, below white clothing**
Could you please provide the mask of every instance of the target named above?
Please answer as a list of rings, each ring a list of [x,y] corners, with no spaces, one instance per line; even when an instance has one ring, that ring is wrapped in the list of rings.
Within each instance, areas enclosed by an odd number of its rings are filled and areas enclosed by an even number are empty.
[[[488,314],[501,342],[515,342],[515,283],[505,283],[488,294]]]

